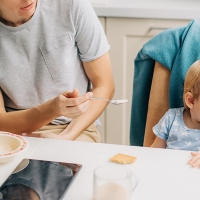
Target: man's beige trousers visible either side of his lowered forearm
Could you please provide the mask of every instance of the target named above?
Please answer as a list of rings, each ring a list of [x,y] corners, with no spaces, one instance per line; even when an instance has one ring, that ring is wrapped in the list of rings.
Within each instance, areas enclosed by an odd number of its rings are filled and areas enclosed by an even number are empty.
[[[45,126],[41,127],[37,131],[34,131],[33,133],[38,134],[38,133],[51,132],[51,133],[54,133],[54,134],[60,134],[67,126],[68,126],[68,124],[65,124],[65,125],[48,124],[48,125],[45,125]],[[85,131],[83,131],[75,139],[75,141],[100,142],[101,141],[101,137],[100,137],[99,131],[97,130],[96,125],[94,123],[92,125],[90,125]]]

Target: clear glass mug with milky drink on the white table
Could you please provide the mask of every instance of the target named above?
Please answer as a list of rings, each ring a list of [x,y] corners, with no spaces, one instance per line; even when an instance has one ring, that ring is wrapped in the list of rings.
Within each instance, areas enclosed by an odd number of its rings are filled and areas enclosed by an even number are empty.
[[[104,165],[94,170],[93,200],[131,200],[136,176],[126,167]]]

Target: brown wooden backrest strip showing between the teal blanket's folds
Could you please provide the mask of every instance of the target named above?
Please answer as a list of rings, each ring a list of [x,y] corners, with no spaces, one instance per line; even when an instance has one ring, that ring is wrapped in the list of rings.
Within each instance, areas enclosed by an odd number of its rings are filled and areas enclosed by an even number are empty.
[[[169,109],[170,70],[156,62],[151,84],[143,146],[149,147],[155,139],[154,125]]]

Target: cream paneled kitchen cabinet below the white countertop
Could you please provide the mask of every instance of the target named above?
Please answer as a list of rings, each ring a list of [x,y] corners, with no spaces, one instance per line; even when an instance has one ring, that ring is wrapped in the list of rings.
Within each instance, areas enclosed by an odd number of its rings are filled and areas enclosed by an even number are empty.
[[[115,81],[113,99],[128,99],[123,105],[109,104],[102,113],[99,131],[102,142],[129,145],[134,59],[142,46],[155,35],[190,20],[99,18],[111,46],[110,57]]]

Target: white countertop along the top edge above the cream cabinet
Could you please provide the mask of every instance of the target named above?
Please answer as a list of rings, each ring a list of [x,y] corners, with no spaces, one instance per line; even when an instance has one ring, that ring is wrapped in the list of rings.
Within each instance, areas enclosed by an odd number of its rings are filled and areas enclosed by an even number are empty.
[[[200,18],[199,0],[111,0],[105,6],[92,5],[99,17]]]

